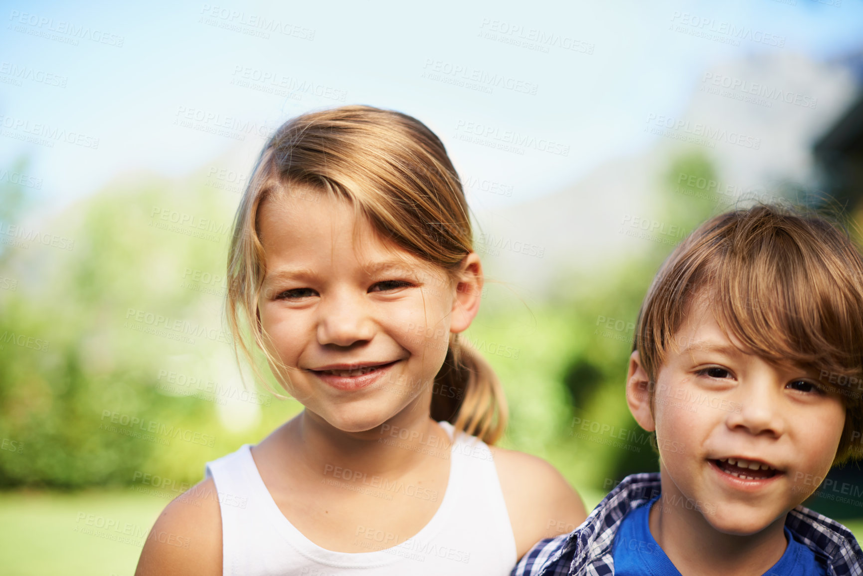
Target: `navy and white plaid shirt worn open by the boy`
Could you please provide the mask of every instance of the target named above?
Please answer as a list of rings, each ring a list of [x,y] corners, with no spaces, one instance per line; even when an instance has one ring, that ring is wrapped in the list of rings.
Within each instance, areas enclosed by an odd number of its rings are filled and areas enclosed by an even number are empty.
[[[539,541],[511,576],[606,576],[614,574],[612,543],[629,510],[659,493],[659,473],[627,476],[570,534]],[[828,576],[860,576],[863,553],[850,530],[813,510],[797,506],[785,526],[815,552]]]

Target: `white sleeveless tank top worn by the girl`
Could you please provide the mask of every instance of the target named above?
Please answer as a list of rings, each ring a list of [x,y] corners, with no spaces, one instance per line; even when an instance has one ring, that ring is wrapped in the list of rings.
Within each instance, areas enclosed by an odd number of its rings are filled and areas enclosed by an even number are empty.
[[[451,440],[452,425],[440,425]],[[515,566],[515,538],[494,460],[474,436],[457,434],[452,442],[450,479],[423,529],[392,548],[383,548],[382,532],[358,535],[372,550],[360,553],[321,548],[294,528],[264,485],[249,446],[205,467],[222,514],[224,576],[508,576]]]

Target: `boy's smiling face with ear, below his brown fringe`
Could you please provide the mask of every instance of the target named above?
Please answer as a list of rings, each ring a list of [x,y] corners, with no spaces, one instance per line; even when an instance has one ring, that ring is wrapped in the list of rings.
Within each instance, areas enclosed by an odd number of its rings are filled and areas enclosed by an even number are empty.
[[[784,522],[833,462],[841,400],[817,373],[741,351],[706,299],[693,303],[675,340],[658,370],[652,414],[638,352],[627,378],[633,415],[656,430],[663,493],[727,534]]]

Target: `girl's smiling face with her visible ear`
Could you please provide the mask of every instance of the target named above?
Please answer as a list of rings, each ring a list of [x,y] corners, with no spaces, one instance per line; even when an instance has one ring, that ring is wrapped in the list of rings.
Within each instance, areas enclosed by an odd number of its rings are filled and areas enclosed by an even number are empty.
[[[306,410],[345,432],[406,408],[427,417],[450,332],[476,314],[476,254],[463,262],[465,286],[381,240],[347,200],[286,196],[259,211],[266,275],[258,311],[271,352],[288,367],[271,363],[274,374]]]

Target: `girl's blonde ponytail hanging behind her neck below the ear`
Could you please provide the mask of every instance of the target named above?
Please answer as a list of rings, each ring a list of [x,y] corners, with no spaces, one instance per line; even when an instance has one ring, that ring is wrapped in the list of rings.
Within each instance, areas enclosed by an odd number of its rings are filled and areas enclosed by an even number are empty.
[[[508,415],[501,381],[491,365],[455,337],[435,378],[431,417],[494,444],[507,427]]]

